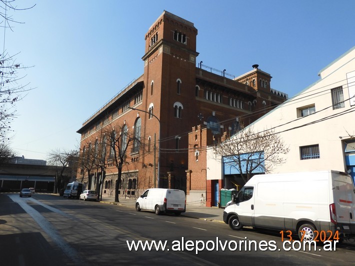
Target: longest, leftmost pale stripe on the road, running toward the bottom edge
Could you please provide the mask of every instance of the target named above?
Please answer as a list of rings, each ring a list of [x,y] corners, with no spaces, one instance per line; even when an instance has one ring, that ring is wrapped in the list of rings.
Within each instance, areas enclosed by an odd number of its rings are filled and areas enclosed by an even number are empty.
[[[19,198],[18,195],[8,195],[14,202],[20,205],[25,212],[27,212],[45,231],[45,233],[53,239],[53,241],[63,250],[64,253],[70,257],[75,264],[82,262],[74,248],[72,248],[57,232],[54,226],[44,218],[37,210],[27,204],[27,200]],[[33,200],[32,200],[33,201]],[[48,206],[49,207],[49,206]],[[20,262],[20,261],[19,261]]]

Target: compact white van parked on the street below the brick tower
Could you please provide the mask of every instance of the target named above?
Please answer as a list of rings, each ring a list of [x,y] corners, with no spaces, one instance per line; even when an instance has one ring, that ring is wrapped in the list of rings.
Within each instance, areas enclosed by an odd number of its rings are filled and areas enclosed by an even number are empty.
[[[156,214],[172,212],[180,215],[186,210],[185,192],[178,189],[149,188],[137,199],[135,209],[152,210]]]

